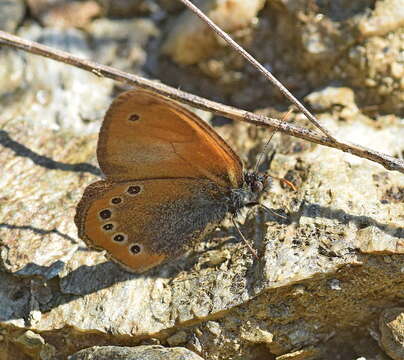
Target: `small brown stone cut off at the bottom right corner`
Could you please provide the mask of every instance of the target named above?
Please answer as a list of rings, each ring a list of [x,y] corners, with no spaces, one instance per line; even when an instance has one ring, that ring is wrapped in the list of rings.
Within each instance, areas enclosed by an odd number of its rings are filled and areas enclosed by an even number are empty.
[[[379,319],[380,345],[394,360],[404,359],[404,308],[390,308]]]

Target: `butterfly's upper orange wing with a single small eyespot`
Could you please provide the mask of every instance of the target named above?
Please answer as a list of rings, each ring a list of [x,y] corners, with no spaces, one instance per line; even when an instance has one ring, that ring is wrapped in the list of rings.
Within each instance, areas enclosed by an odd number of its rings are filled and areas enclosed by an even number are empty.
[[[239,157],[205,122],[177,103],[132,90],[111,104],[97,149],[113,181],[202,178],[225,187],[243,182]]]

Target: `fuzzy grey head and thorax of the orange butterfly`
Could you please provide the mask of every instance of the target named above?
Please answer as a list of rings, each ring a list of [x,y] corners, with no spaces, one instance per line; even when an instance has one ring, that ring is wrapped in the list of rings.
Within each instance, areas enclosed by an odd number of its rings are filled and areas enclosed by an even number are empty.
[[[243,186],[231,190],[229,211],[237,215],[244,206],[257,205],[260,197],[271,188],[271,185],[272,178],[267,174],[253,171],[245,173]]]

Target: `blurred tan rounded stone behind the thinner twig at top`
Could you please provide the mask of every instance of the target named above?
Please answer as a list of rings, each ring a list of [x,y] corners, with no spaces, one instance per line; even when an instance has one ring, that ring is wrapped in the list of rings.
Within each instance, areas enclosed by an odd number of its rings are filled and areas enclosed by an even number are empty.
[[[209,0],[202,10],[228,33],[250,25],[264,6],[263,0]],[[219,46],[216,35],[189,10],[177,20],[163,45],[162,52],[180,64],[195,64],[211,56]]]

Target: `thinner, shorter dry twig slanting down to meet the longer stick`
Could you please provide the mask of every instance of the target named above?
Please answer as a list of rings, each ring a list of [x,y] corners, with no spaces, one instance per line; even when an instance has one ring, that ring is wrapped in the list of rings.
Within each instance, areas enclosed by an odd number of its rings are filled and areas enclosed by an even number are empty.
[[[297,106],[297,108],[317,127],[319,128],[327,137],[331,140],[335,138],[330,134],[330,132],[320,124],[317,118],[309,111],[307,108],[297,100],[293,94],[274,76],[268,71],[264,66],[260,64],[250,53],[243,49],[239,44],[237,44],[225,31],[218,27],[211,19],[209,19],[199,8],[192,4],[189,0],[180,0],[185,4],[195,15],[197,15],[203,22],[206,23],[217,35],[219,35],[224,41],[226,41],[237,53],[243,56],[252,66],[254,66],[262,75],[264,75],[273,85],[275,85],[279,91]]]

